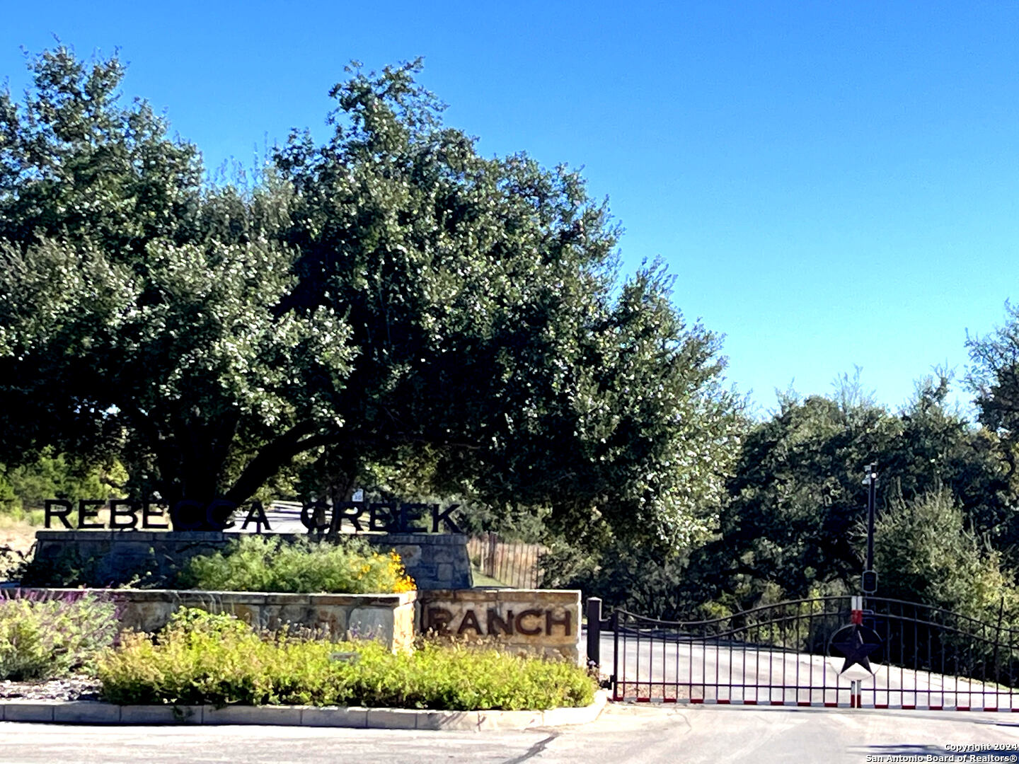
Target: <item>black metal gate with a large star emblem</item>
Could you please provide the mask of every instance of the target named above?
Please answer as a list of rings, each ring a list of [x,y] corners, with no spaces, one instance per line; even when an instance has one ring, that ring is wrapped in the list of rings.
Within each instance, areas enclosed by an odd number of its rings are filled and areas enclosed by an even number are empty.
[[[592,598],[587,614],[616,701],[1019,711],[1019,634],[1001,615],[850,596],[686,622],[602,618]]]

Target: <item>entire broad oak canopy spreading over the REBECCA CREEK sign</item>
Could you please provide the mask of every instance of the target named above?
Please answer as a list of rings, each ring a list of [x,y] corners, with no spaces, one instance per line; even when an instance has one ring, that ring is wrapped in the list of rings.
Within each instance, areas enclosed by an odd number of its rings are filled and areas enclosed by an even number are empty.
[[[294,459],[333,500],[383,465],[595,545],[707,531],[740,427],[718,338],[659,267],[621,279],[577,172],[446,126],[419,62],[350,69],[332,138],[249,187],[122,106],[116,58],[32,66],[0,94],[5,459],[233,502]]]

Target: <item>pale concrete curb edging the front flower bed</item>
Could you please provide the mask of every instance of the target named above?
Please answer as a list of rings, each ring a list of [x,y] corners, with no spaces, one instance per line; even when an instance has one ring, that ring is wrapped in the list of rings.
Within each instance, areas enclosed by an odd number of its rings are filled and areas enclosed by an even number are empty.
[[[3,721],[64,724],[276,724],[362,729],[528,729],[594,721],[605,707],[599,692],[583,708],[547,711],[417,711],[351,706],[117,706],[97,701],[6,701]]]

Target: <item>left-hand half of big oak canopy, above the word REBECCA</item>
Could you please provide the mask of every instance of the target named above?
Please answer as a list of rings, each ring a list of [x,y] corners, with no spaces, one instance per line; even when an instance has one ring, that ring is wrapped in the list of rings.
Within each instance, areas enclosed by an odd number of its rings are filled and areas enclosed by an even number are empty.
[[[116,59],[34,70],[22,106],[0,94],[6,455],[119,454],[136,488],[209,500],[282,433],[335,425],[354,350],[328,308],[274,311],[280,197],[202,188],[195,147],[118,104]]]

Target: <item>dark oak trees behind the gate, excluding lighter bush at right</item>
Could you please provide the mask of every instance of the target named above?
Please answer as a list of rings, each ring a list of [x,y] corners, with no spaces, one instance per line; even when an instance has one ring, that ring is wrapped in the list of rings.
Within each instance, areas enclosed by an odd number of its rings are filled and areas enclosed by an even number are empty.
[[[911,502],[943,486],[978,534],[1014,542],[1014,513],[994,438],[945,403],[946,380],[921,386],[899,414],[866,399],[787,399],[748,436],[716,559],[728,560],[741,604],[774,592],[855,589],[863,564],[867,488],[863,468],[881,475],[878,506]]]

